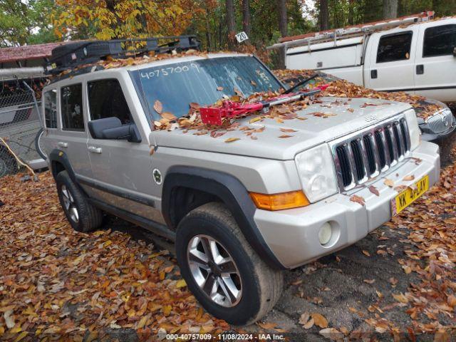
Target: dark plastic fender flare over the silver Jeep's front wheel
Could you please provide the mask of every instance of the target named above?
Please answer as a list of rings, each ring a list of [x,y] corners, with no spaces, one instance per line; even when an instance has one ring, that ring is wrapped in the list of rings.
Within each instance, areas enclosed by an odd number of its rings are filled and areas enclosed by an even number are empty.
[[[214,195],[228,207],[250,246],[274,269],[286,269],[264,241],[254,222],[255,207],[242,183],[232,175],[200,167],[173,166],[167,170],[162,188],[162,214],[168,227],[175,230],[173,190],[187,187]]]

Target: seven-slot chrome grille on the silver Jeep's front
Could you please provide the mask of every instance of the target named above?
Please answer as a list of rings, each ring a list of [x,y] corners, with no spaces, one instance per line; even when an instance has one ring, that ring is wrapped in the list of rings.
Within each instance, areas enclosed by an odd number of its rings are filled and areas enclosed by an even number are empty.
[[[395,118],[331,146],[339,187],[347,191],[403,160],[410,152],[410,135],[405,118]]]

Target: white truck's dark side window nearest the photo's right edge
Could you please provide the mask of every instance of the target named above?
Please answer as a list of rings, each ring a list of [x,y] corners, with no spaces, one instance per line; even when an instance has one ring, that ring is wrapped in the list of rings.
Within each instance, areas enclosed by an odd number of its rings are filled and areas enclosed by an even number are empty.
[[[456,46],[456,25],[426,28],[423,57],[452,55]]]

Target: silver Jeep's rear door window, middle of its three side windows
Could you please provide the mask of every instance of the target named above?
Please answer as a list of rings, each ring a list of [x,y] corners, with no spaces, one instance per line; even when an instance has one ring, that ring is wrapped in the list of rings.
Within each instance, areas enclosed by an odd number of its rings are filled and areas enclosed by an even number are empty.
[[[61,88],[63,130],[84,130],[82,88],[81,84]]]

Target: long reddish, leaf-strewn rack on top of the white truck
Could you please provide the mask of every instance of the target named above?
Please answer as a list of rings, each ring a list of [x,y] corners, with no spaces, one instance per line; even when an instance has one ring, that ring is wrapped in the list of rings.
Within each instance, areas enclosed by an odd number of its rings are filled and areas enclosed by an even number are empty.
[[[299,36],[290,36],[280,38],[280,43],[273,46],[268,46],[268,50],[272,48],[293,47],[310,45],[315,43],[323,43],[325,41],[337,41],[338,38],[352,38],[357,36],[365,36],[375,31],[387,30],[401,25],[416,24],[423,21],[434,19],[434,11],[424,11],[419,14],[410,16],[402,16],[397,19],[374,21],[371,23],[360,24],[356,26],[347,26],[345,28],[336,28],[328,31],[306,33]]]

